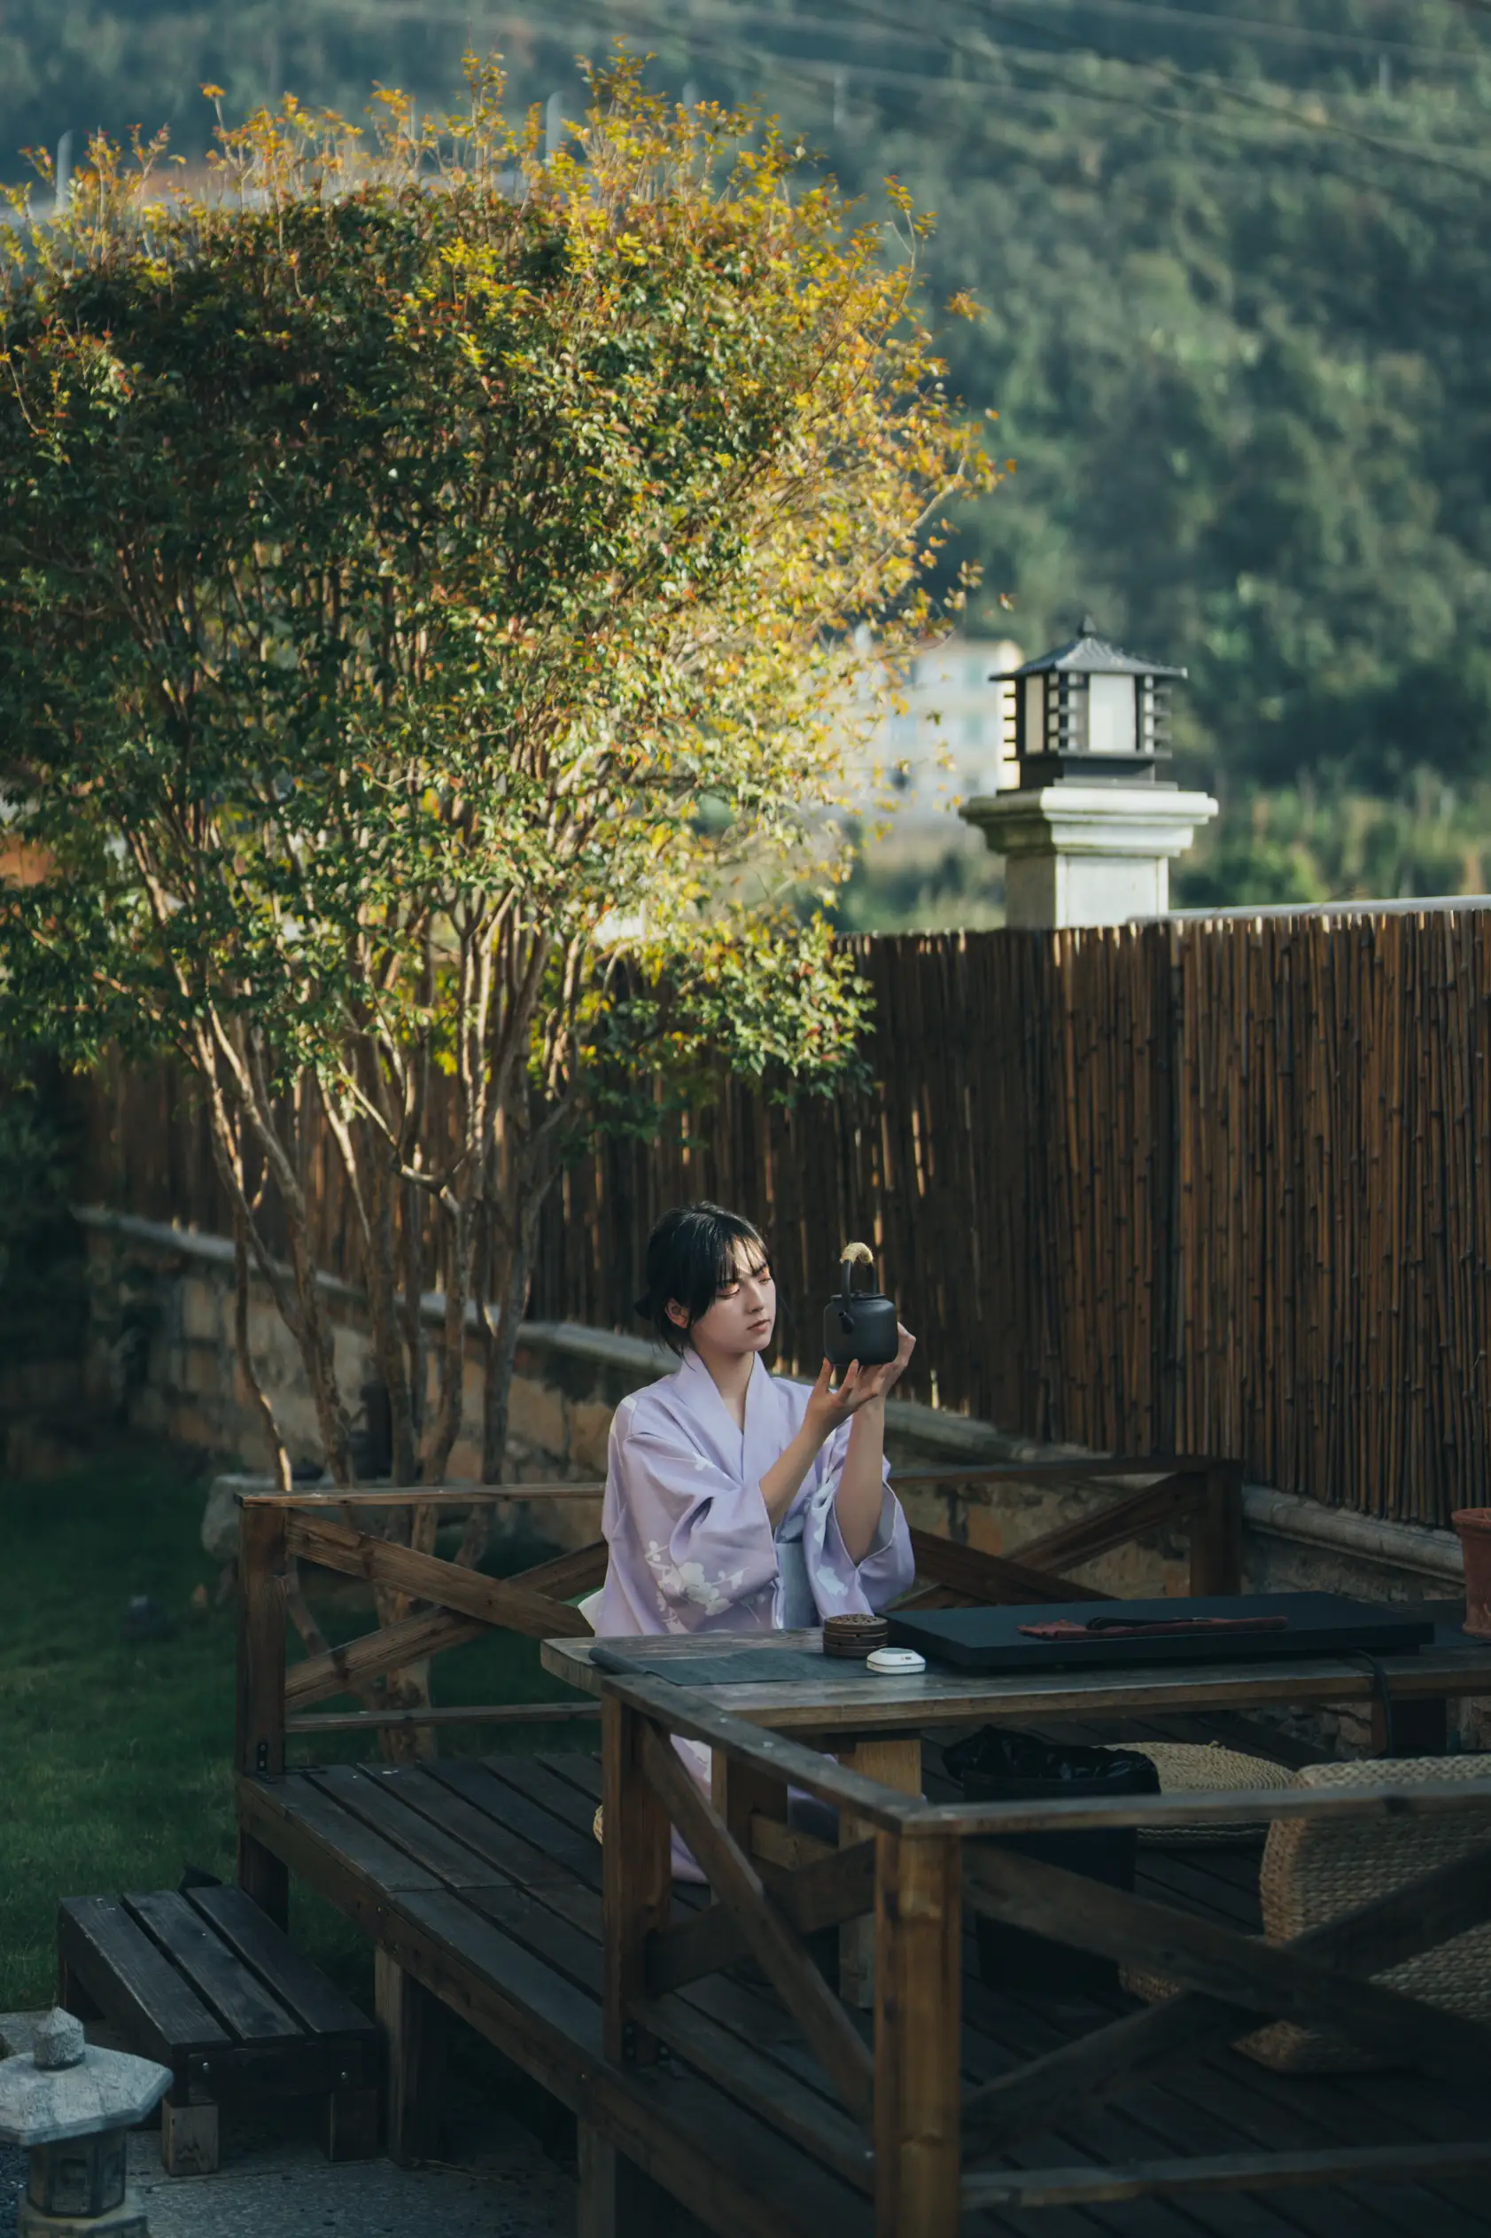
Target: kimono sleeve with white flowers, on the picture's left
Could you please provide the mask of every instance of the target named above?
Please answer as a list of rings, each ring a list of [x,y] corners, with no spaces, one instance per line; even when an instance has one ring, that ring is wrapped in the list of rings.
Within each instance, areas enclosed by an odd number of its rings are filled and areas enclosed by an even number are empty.
[[[662,1632],[726,1629],[731,1611],[760,1620],[762,1598],[771,1623],[778,1562],[760,1484],[731,1477],[664,1426],[633,1428],[615,1473],[612,1562],[626,1560],[633,1598],[653,1600]]]

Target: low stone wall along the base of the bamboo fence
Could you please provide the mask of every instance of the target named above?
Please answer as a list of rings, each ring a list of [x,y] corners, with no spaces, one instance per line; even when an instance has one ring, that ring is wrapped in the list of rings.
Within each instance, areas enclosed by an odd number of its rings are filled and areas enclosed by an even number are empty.
[[[85,1213],[92,1258],[94,1334],[85,1385],[94,1405],[156,1437],[194,1446],[226,1470],[262,1470],[262,1426],[241,1388],[232,1345],[232,1249],[112,1213]],[[355,1399],[367,1381],[367,1320],[353,1291],[329,1285],[338,1372]],[[431,1316],[438,1300],[427,1300]],[[268,1291],[253,1285],[250,1343],[257,1372],[275,1392],[291,1457],[317,1461],[315,1417],[300,1356]],[[606,1473],[610,1414],[628,1390],[666,1374],[655,1345],[577,1323],[528,1323],[512,1388],[510,1475],[521,1482],[595,1479]],[[467,1356],[467,1430],[449,1479],[481,1470],[481,1354]],[[899,1464],[1060,1459],[1062,1450],[1001,1435],[990,1423],[892,1401],[890,1450]],[[912,1522],[988,1553],[1022,1542],[1111,1499],[1080,1482],[999,1484],[997,1488],[908,1491]],[[597,1535],[599,1502],[505,1511],[510,1529],[561,1544]],[[1250,1486],[1245,1493],[1245,1578],[1254,1589],[1326,1589],[1373,1600],[1449,1598],[1460,1591],[1457,1544],[1449,1533],[1341,1515],[1314,1502]],[[1183,1529],[1115,1549],[1082,1569],[1086,1582],[1120,1596],[1183,1591]]]

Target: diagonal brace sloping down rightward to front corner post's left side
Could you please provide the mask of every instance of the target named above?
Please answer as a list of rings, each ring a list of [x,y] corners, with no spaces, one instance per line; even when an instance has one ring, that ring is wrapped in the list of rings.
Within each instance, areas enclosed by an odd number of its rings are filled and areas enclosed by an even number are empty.
[[[729,1905],[751,1956],[765,1969],[809,2048],[856,2122],[867,2122],[874,2063],[849,2014],[811,1963],[787,1916],[767,1896],[760,1873],[729,1826],[704,1799],[655,1725],[642,1725],[642,1766],[722,1905]]]

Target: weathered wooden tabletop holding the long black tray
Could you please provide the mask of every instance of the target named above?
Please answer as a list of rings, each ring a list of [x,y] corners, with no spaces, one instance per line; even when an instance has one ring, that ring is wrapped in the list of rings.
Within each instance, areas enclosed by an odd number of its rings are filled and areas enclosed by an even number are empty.
[[[1491,1640],[1471,1640],[1457,1629],[1462,1605],[1433,1605],[1437,1638],[1415,1656],[1381,1656],[1395,1701],[1437,1696],[1491,1696]],[[543,1640],[543,1667],[583,1694],[599,1694],[606,1672],[592,1661],[599,1640]],[[637,1649],[637,1640],[617,1640]],[[677,1665],[677,1683],[693,1685],[691,1663],[706,1663],[733,1649],[765,1654],[794,1652],[823,1658],[820,1681],[769,1685],[697,1687],[718,1710],[771,1725],[780,1732],[910,1732],[921,1725],[957,1725],[968,1719],[1051,1717],[1140,1717],[1209,1710],[1256,1710],[1267,1703],[1370,1701],[1373,1674],[1366,1663],[1332,1656],[1301,1656],[1270,1663],[1212,1663],[1180,1670],[1042,1672],[1033,1678],[928,1670],[914,1678],[876,1678],[863,1663],[823,1656],[818,1632],[704,1632],[688,1638],[653,1638],[650,1663]]]

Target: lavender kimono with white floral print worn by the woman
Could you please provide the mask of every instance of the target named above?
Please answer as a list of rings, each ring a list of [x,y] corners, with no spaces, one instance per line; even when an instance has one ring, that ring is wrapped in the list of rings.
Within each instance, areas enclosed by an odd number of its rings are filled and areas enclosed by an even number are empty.
[[[807,1383],[756,1363],[744,1432],[695,1352],[675,1376],[633,1392],[610,1426],[601,1529],[610,1567],[586,1611],[597,1634],[773,1632],[867,1616],[912,1582],[901,1502],[885,1486],[863,1562],[838,1533],[834,1493],[849,1423],[834,1430],[771,1531],[760,1479],[803,1428]]]

